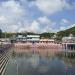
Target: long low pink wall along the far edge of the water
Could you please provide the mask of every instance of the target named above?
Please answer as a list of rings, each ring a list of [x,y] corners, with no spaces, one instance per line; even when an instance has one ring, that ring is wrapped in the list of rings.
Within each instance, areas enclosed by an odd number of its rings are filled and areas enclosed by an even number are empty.
[[[50,48],[50,49],[62,49],[61,44],[55,43],[14,43],[15,48]]]

